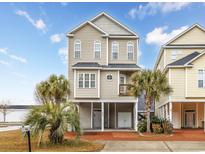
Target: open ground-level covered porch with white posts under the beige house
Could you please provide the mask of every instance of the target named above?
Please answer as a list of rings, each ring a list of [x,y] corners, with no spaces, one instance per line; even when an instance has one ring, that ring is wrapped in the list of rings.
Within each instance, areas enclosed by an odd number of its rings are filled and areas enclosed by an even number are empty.
[[[79,103],[81,128],[87,132],[136,131],[137,103]]]

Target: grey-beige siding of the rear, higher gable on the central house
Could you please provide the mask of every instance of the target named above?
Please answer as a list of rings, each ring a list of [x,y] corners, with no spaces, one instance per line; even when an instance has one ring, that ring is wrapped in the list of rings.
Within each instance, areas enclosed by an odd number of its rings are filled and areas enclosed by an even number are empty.
[[[103,29],[108,34],[117,34],[117,35],[131,35],[126,29],[122,28],[117,23],[113,22],[112,20],[108,19],[106,16],[101,16],[97,20],[93,21],[98,27]]]

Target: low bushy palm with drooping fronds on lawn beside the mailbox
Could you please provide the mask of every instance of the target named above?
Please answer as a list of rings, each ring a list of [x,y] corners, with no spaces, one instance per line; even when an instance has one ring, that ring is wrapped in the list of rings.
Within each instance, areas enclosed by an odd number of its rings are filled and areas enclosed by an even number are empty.
[[[80,122],[76,105],[72,103],[45,103],[34,107],[25,120],[30,125],[31,133],[39,135],[38,146],[45,130],[49,130],[49,141],[53,144],[62,143],[68,124],[74,128],[77,137],[80,135]]]

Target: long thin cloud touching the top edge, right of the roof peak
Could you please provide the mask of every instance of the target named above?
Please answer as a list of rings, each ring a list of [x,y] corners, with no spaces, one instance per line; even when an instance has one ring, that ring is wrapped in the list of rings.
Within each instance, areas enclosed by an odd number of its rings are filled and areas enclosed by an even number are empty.
[[[143,19],[146,16],[152,16],[157,13],[166,14],[171,12],[177,12],[185,7],[187,7],[190,3],[185,2],[169,2],[169,3],[160,3],[160,2],[150,2],[145,5],[139,5],[137,7],[132,8],[128,15],[132,18]]]

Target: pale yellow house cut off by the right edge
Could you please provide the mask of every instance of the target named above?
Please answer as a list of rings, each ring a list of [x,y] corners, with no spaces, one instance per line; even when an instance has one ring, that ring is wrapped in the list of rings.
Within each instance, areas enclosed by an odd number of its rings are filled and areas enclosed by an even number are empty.
[[[166,73],[173,93],[161,96],[156,114],[174,128],[204,127],[205,29],[195,24],[161,47],[155,70]]]

